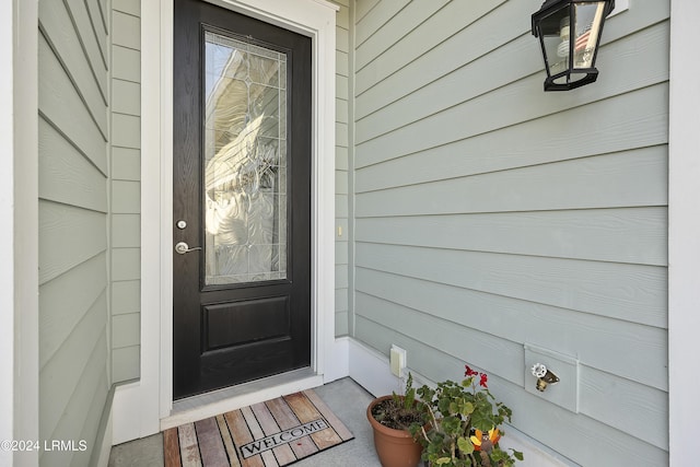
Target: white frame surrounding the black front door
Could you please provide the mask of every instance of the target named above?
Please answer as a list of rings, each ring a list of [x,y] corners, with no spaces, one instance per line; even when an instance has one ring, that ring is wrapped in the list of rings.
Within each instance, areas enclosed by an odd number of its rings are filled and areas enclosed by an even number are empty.
[[[347,369],[343,342],[335,339],[338,8],[325,0],[206,1],[312,38],[312,370],[316,377],[303,382],[312,387],[342,376],[336,369]],[[173,0],[141,3],[141,377],[115,393],[114,444],[160,431],[173,408]],[[284,390],[270,388],[257,397],[271,397],[276,389]]]

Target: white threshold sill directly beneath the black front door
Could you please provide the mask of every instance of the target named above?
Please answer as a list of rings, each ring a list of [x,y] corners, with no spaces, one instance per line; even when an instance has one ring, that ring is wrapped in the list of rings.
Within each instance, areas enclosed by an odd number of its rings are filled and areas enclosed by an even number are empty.
[[[161,419],[161,431],[323,384],[322,375],[304,367],[175,400],[170,417]]]

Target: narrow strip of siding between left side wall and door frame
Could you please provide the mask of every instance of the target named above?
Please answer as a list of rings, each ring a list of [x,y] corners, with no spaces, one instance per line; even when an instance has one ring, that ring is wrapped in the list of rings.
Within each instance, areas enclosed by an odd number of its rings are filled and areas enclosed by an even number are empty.
[[[112,4],[112,374],[140,375],[141,20],[140,1]]]

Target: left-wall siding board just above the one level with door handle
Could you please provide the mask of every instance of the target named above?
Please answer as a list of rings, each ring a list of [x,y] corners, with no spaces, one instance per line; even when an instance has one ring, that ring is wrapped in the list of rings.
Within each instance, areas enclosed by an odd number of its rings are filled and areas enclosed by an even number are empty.
[[[104,173],[39,117],[39,198],[107,212]]]

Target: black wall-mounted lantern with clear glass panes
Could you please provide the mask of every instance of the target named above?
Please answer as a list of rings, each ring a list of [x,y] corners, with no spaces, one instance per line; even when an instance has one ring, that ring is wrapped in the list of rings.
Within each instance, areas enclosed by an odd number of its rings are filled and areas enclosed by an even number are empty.
[[[545,91],[569,91],[598,78],[595,59],[615,0],[546,0],[533,14],[545,57]]]

